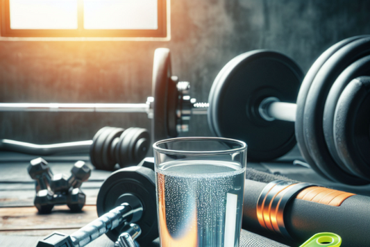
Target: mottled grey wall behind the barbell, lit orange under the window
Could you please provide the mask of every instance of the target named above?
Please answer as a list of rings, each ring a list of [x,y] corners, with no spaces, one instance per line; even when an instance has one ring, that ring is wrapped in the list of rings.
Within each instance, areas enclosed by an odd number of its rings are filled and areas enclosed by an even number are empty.
[[[142,103],[153,52],[208,99],[218,71],[239,53],[273,49],[307,71],[328,46],[370,33],[370,1],[172,0],[169,42],[0,42],[0,101]],[[150,127],[145,114],[0,113],[0,138],[48,143],[90,139],[102,126]],[[210,135],[206,117],[190,135]]]

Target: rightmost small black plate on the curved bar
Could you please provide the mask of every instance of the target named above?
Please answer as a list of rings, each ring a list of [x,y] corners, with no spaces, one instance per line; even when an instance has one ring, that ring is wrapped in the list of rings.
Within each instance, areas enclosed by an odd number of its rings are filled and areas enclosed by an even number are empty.
[[[130,144],[128,144],[128,159],[131,160],[131,164],[137,165],[144,159],[150,147],[150,138],[148,130],[144,128],[135,129]],[[137,150],[137,144],[140,145],[140,150]]]

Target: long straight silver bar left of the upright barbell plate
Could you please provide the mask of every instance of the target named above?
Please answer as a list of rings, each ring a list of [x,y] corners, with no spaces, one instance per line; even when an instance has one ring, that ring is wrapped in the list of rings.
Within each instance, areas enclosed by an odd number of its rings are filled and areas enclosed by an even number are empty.
[[[0,112],[149,112],[146,103],[0,103]]]

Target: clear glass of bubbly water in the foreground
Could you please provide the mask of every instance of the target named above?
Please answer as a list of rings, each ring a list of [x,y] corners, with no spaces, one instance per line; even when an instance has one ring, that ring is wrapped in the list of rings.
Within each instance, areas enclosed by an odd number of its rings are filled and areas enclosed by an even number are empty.
[[[237,247],[246,144],[183,137],[153,144],[162,247]]]

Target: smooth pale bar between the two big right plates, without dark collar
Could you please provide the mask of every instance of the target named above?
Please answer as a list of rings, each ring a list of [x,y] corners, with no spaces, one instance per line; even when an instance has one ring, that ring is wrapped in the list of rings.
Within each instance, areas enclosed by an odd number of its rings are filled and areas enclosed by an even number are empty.
[[[296,121],[297,105],[294,103],[273,102],[267,108],[267,114],[283,121]]]

